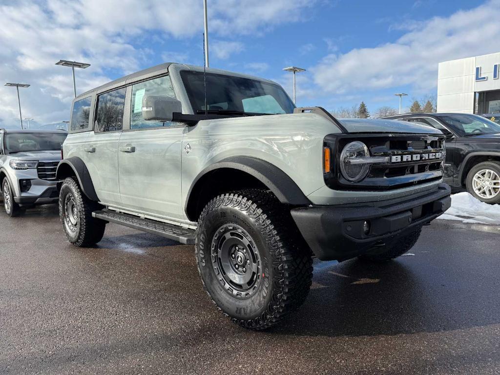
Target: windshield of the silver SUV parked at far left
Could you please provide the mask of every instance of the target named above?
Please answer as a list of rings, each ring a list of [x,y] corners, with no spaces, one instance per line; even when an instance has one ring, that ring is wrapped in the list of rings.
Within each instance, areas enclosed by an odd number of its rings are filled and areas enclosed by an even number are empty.
[[[58,133],[6,133],[5,149],[8,153],[60,150],[66,136],[67,133],[62,131]]]

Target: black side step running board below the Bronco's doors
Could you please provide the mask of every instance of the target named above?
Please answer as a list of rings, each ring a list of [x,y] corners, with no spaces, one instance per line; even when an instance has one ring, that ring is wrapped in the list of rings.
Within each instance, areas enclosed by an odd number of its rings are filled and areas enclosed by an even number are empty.
[[[194,244],[196,235],[194,229],[183,228],[182,226],[141,218],[128,213],[115,212],[109,209],[94,211],[92,212],[92,217],[142,230],[144,232],[161,235],[188,245]]]

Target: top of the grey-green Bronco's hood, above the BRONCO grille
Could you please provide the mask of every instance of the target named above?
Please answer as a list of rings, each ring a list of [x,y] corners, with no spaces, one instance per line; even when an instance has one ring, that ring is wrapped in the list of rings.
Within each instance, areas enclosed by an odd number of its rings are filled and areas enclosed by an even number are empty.
[[[349,133],[418,133],[442,134],[431,126],[382,118],[337,118]]]

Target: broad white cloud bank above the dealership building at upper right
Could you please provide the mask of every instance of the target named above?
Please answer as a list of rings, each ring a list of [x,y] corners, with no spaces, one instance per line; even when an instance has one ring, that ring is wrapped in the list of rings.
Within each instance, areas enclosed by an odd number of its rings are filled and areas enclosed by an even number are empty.
[[[392,43],[329,54],[311,68],[314,82],[327,93],[352,93],[409,84],[415,93],[437,83],[437,64],[498,51],[500,0],[449,17],[411,25]]]

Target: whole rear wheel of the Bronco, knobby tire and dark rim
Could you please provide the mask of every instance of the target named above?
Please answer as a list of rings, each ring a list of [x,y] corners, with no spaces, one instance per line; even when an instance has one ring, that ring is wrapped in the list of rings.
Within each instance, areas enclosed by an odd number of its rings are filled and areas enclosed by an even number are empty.
[[[88,199],[75,177],[66,178],[59,193],[59,217],[67,240],[78,247],[99,242],[104,235],[106,221],[92,217],[100,205]]]

